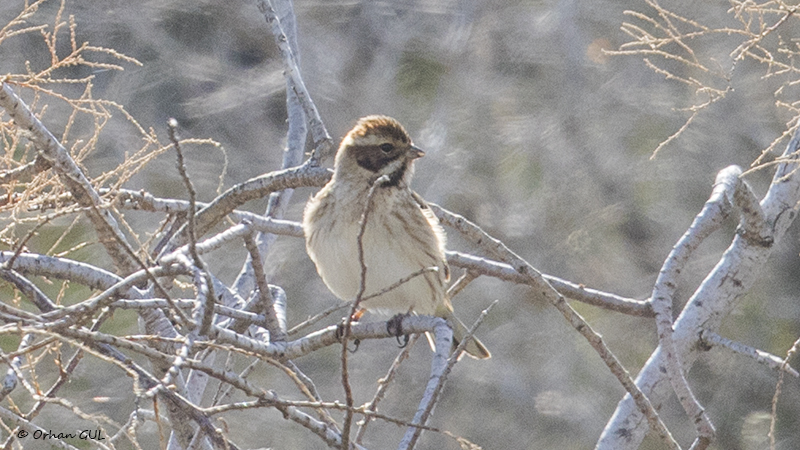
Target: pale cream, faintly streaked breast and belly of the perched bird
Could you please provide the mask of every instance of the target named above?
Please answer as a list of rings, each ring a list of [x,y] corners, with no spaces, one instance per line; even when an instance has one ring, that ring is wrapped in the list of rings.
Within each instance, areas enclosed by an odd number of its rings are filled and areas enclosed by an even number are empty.
[[[352,202],[332,201],[333,192],[318,195],[304,217],[306,244],[317,271],[339,298],[350,301],[361,280],[358,261],[358,221],[366,195]],[[367,266],[365,296],[380,292],[420,269],[436,267],[362,306],[375,311],[433,314],[444,301],[447,278],[444,243],[438,223],[430,223],[407,189],[379,189],[372,200],[364,232]],[[316,217],[316,220],[311,220]],[[433,226],[432,226],[433,225]]]

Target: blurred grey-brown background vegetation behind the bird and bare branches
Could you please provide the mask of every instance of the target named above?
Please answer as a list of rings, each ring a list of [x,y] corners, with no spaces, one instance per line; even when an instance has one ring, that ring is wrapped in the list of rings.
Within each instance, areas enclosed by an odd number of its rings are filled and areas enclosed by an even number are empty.
[[[669,3],[673,11],[709,27],[741,27],[730,12],[737,2]],[[21,0],[0,3],[0,24],[22,7]],[[29,23],[52,27],[59,8],[58,1],[48,1]],[[427,152],[417,164],[414,182],[426,199],[475,221],[547,274],[624,296],[649,296],[664,258],[701,209],[717,171],[730,164],[749,167],[796,114],[776,104],[792,102],[796,94],[789,87],[782,96],[774,94],[786,79],[765,77],[771,71],[753,59],[733,63],[730,54],[741,36],[698,38],[689,43],[698,57],[713,61],[725,76],[708,81],[701,70],[659,62],[673,73],[727,91],[651,158],[659,143],[691,115],[681,108],[703,99],[696,88],[647,68],[641,56],[603,52],[631,40],[620,29],[623,22],[635,21],[625,10],[654,14],[643,1],[298,0],[295,10],[302,75],[335,139],[363,115],[394,116]],[[188,149],[189,173],[200,200],[212,199],[220,185],[227,188],[280,167],[286,132],[282,64],[254,4],[70,0],[66,15],[75,17],[78,41],[113,48],[142,65],[122,62],[121,72],[66,67],[63,76],[93,75],[95,98],[124,105],[163,144],[168,117],[178,119],[183,137],[221,144]],[[774,23],[780,16],[767,17]],[[792,19],[769,39],[795,42],[797,28]],[[66,34],[61,43],[68,52]],[[34,71],[50,64],[40,35],[0,43],[0,74],[25,73],[26,64]],[[63,84],[48,88],[71,97],[81,92]],[[53,105],[44,123],[61,136],[67,122],[64,110],[56,100],[48,103]],[[136,127],[120,112],[113,114],[96,150],[83,159],[90,176],[113,169],[143,145]],[[768,168],[747,176],[759,195],[770,179]],[[159,156],[124,186],[186,198],[171,154]],[[287,218],[299,220],[312,192],[295,193]],[[263,212],[265,204],[247,207]],[[128,212],[126,219],[144,239],[145,232],[156,229],[146,213]],[[54,222],[31,245],[49,248],[69,223]],[[690,270],[684,271],[676,310],[716,263],[734,228],[729,223],[696,253]],[[472,250],[454,232],[449,234],[450,248]],[[86,237],[76,229],[70,239],[62,251]],[[92,260],[100,251],[93,246],[66,256]],[[725,320],[724,336],[785,355],[800,335],[798,253],[794,225],[764,268],[761,282]],[[208,263],[230,282],[243,260],[242,249]],[[335,301],[316,276],[301,240],[279,238],[267,266],[273,282],[288,293],[290,323]],[[76,290],[74,295],[85,294]],[[4,290],[2,295],[11,294]],[[494,357],[457,366],[432,425],[485,448],[592,447],[623,389],[563,318],[524,287],[479,279],[455,299],[455,306],[469,322],[494,299],[501,302],[478,332]],[[656,346],[652,319],[574,306],[635,374]],[[133,314],[120,314],[107,326],[137,333]],[[427,379],[429,350],[417,347],[382,406],[395,417],[411,417]],[[15,349],[16,344],[4,348]],[[318,383],[323,398],[340,399],[338,350],[329,350],[297,363]],[[351,370],[362,396],[357,403],[368,400],[395,354],[392,342],[380,341],[364,343],[354,355]],[[131,381],[113,370],[92,370],[101,366],[87,361],[69,389],[81,398],[82,407],[124,422],[132,399],[120,392],[129,393]],[[266,369],[257,376],[279,391],[280,383],[286,383],[270,380],[278,376]],[[718,427],[712,448],[766,448],[774,372],[713,350],[689,377]],[[91,397],[106,400],[92,403]],[[787,380],[778,411],[778,448],[800,448],[797,380]],[[40,425],[58,426],[59,412],[43,414]],[[668,402],[662,413],[681,444],[688,445],[693,428],[678,403]],[[264,416],[266,425],[251,417],[235,418],[228,416],[230,433],[242,445],[324,448],[277,412]],[[249,440],[253,430],[265,428],[274,432]],[[154,427],[149,430],[155,433]],[[382,442],[397,442],[402,432],[374,425],[365,444],[382,448]],[[457,448],[435,433],[427,433],[423,444]],[[661,447],[652,440],[642,448]]]

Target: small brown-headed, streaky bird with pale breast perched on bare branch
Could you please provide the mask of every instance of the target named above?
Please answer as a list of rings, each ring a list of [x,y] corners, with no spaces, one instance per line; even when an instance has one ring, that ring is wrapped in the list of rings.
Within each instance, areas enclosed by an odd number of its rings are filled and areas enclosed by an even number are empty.
[[[414,162],[424,154],[397,120],[382,115],[359,119],[339,145],[333,177],[306,203],[306,251],[334,295],[344,301],[355,299],[362,276],[358,236],[369,200],[361,238],[367,267],[362,298],[366,300],[360,306],[378,314],[441,317],[453,329],[455,347],[467,328],[453,314],[447,296],[450,271],[444,230],[425,200],[409,186]],[[386,291],[426,268],[432,269]],[[371,297],[375,294],[379,295]],[[465,352],[476,359],[491,357],[475,337]]]

